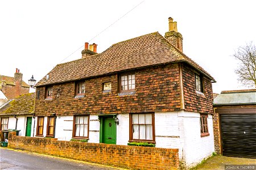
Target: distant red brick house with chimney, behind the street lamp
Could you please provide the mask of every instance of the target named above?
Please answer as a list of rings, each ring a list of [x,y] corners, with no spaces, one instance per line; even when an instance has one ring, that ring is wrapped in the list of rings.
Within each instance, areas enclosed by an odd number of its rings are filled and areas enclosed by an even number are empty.
[[[14,99],[21,94],[28,94],[30,86],[22,80],[22,75],[19,69],[16,69],[14,77],[0,75],[0,95],[5,95],[7,99]]]

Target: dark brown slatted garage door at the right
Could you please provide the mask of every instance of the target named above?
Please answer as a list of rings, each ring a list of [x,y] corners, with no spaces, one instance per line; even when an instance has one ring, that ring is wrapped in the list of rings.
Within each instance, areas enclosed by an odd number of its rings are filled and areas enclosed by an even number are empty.
[[[222,153],[256,158],[256,114],[220,114]]]

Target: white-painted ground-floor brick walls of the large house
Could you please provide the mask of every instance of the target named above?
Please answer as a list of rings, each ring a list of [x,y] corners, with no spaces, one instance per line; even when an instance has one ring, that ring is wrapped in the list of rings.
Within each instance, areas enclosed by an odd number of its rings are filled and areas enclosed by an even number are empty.
[[[117,145],[127,145],[129,141],[129,114],[118,114]],[[209,136],[201,137],[200,113],[196,112],[155,112],[156,147],[178,148],[179,160],[192,167],[214,152],[213,121],[208,114]],[[37,124],[37,122],[35,122]],[[47,117],[44,117],[46,136]],[[73,116],[57,116],[55,138],[69,141],[72,138]],[[35,131],[36,134],[36,131]],[[100,121],[97,115],[90,115],[89,141],[100,143]]]

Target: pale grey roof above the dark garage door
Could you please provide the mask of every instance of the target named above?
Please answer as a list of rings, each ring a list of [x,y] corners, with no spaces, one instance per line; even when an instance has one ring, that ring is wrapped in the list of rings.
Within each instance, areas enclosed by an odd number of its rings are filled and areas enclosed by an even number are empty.
[[[213,100],[213,105],[256,104],[256,89],[222,91]]]

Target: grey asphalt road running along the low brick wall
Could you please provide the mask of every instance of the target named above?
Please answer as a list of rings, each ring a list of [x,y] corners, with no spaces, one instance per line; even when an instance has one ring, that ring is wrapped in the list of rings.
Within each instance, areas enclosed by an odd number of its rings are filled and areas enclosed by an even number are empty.
[[[122,168],[87,163],[56,156],[0,147],[0,169],[90,169],[116,170]]]

